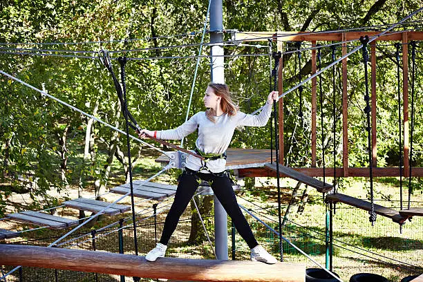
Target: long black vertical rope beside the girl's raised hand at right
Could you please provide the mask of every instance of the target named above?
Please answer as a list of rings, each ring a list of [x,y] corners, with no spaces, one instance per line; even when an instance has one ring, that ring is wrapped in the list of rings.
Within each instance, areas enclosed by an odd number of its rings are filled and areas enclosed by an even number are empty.
[[[273,90],[277,89],[278,82],[278,69],[279,69],[279,59],[281,59],[281,51],[274,52],[272,55],[274,59],[274,68],[272,69],[273,76]],[[276,179],[277,179],[277,188],[278,188],[278,217],[279,217],[279,254],[281,255],[281,261],[283,261],[283,249],[282,249],[282,218],[281,218],[281,186],[279,183],[279,136],[278,136],[278,113],[276,111],[276,101],[273,102],[273,118],[274,118],[274,148],[276,155]]]

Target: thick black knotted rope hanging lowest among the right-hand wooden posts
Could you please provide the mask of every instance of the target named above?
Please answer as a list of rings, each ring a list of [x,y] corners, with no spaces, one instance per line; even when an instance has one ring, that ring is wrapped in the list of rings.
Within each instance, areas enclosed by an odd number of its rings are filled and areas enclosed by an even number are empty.
[[[365,89],[365,95],[364,95],[364,101],[366,101],[366,107],[364,108],[364,113],[366,113],[367,118],[367,144],[368,144],[368,167],[369,167],[369,178],[370,178],[370,211],[368,212],[370,214],[369,220],[370,223],[372,223],[372,226],[375,225],[376,221],[376,213],[375,213],[375,203],[373,203],[373,162],[372,162],[372,141],[371,141],[371,127],[370,127],[370,97],[368,95],[368,71],[367,71],[367,63],[368,63],[368,52],[367,52],[367,43],[368,43],[368,36],[360,37],[360,42],[363,45],[361,47],[361,51],[363,54],[363,63],[364,63],[364,86]]]

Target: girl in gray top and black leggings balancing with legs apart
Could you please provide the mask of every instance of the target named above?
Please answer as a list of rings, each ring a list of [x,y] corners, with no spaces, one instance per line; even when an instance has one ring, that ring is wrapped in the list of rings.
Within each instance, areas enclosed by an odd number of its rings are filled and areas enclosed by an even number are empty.
[[[146,135],[149,135],[164,140],[180,140],[198,128],[195,151],[205,158],[202,161],[200,158],[188,155],[175,199],[164,222],[160,243],[145,258],[147,261],[156,261],[157,258],[164,256],[169,238],[175,231],[182,212],[194,196],[198,180],[201,179],[212,182],[214,194],[232,218],[238,233],[250,247],[251,260],[276,263],[276,259],[257,243],[250,225],[238,207],[231,180],[225,173],[225,151],[229,147],[236,126],[265,126],[267,124],[273,101],[278,100],[278,92],[272,91],[269,94],[259,115],[248,115],[238,111],[238,107],[231,100],[226,84],[209,84],[203,100],[207,111],[196,113],[177,129],[162,131],[142,129],[139,133],[140,138],[147,138]]]

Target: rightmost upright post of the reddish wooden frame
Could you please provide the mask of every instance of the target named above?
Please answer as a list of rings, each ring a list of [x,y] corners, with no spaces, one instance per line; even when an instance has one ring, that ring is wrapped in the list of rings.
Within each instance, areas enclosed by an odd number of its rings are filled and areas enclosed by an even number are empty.
[[[404,177],[410,174],[408,160],[408,32],[402,32],[402,92],[404,95]]]

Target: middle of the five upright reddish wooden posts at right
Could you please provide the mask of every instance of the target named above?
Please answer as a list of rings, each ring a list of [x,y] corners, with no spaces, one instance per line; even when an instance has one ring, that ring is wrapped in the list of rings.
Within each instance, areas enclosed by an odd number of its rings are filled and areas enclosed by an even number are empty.
[[[346,33],[342,33],[342,56],[348,53]],[[342,162],[344,177],[348,177],[348,84],[347,58],[342,60]]]

